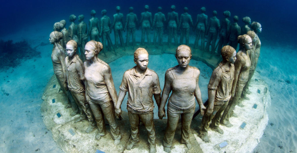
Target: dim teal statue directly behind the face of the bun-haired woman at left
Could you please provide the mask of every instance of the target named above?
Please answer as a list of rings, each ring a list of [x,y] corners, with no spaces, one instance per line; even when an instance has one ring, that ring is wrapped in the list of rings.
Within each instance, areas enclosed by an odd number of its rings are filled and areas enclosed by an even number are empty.
[[[88,27],[86,22],[83,21],[85,19],[85,16],[83,14],[78,16],[78,28],[77,28],[77,34],[78,34],[78,46],[79,46],[79,56],[80,59],[85,61],[86,57],[84,56],[84,47],[88,41]]]

